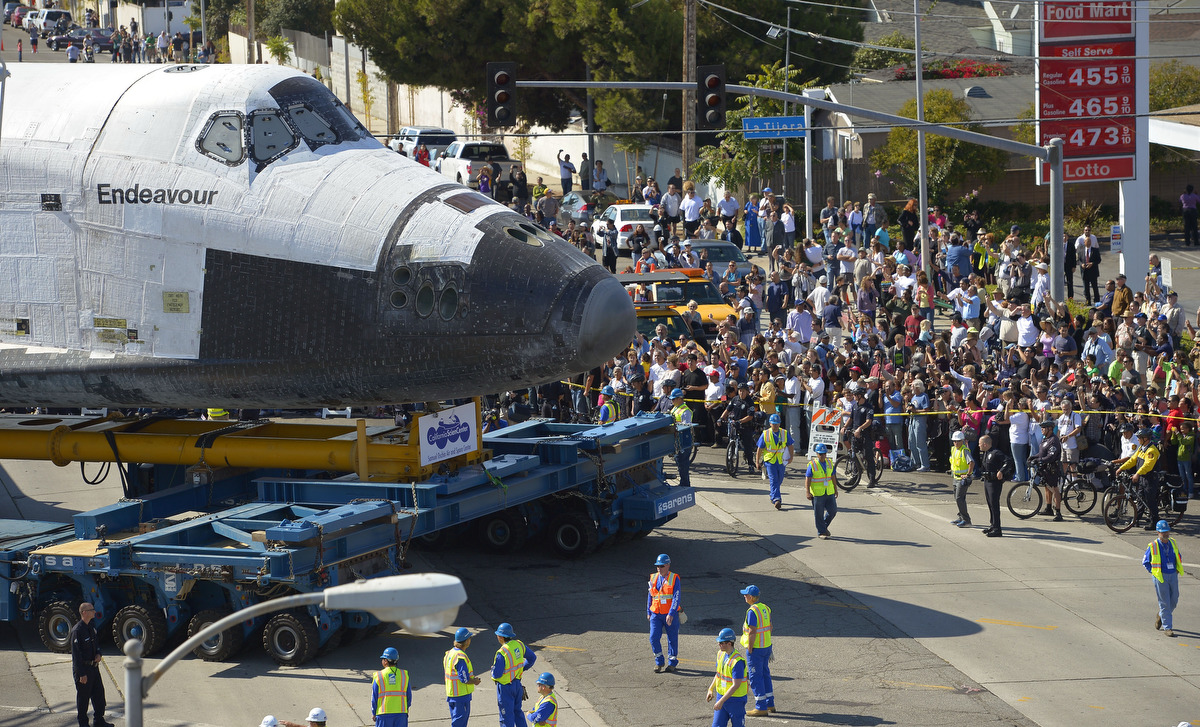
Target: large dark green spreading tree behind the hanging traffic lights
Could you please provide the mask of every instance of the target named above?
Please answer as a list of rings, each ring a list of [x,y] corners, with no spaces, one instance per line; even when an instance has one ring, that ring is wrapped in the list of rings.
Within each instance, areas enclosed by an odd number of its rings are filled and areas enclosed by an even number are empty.
[[[722,5],[755,17],[779,14],[776,0]],[[390,80],[450,91],[467,108],[484,101],[484,64],[492,60],[517,60],[522,79],[577,80],[590,70],[595,80],[677,80],[682,18],[682,0],[341,0],[334,11],[338,30],[366,48]],[[698,13],[700,64],[725,62],[727,76],[739,78],[780,58],[781,44],[739,32],[744,23],[734,20],[708,6]],[[862,38],[857,13],[823,7],[793,10],[792,26]],[[797,34],[792,53],[811,59],[804,60],[808,76],[833,82],[845,78],[853,48]],[[586,107],[586,95],[569,89],[521,89],[518,96],[524,121],[556,130]],[[600,92],[596,122],[611,131],[678,128],[685,96],[670,94],[664,112],[659,92]]]

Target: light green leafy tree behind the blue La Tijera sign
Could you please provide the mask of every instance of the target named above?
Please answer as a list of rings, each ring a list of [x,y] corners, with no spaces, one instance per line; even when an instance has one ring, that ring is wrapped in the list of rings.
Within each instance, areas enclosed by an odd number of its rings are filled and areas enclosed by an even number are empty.
[[[746,85],[760,89],[781,91],[785,86],[796,94],[812,85],[811,82],[799,82],[798,68],[784,68],[775,61],[763,66],[761,73],[746,76]],[[784,145],[779,139],[748,139],[742,133],[742,119],[748,116],[782,116],[784,102],[770,98],[737,96],[731,100],[725,114],[725,131],[718,132],[715,146],[704,146],[697,151],[692,178],[716,178],[727,187],[744,187],[756,179],[762,179],[779,169],[784,160]],[[788,139],[787,156],[793,160],[804,158],[804,142]]]

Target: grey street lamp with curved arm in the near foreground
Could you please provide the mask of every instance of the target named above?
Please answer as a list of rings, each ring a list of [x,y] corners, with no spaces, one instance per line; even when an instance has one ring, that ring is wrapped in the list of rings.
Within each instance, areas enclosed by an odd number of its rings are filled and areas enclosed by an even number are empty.
[[[167,655],[150,674],[142,675],[140,639],[125,642],[125,723],[142,727],[143,699],[158,679],[192,649],[230,626],[276,611],[296,606],[323,605],[330,611],[367,611],[383,621],[401,621],[418,633],[439,631],[454,623],[458,607],[467,602],[462,581],[444,573],[386,576],[335,585],[323,591],[272,599],[218,619]]]

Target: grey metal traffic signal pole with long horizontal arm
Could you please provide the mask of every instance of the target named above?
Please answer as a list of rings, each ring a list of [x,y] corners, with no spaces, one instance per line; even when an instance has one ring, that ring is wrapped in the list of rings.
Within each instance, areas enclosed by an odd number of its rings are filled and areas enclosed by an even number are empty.
[[[607,91],[691,91],[695,90],[695,85],[690,83],[678,83],[678,82],[612,82],[612,80],[600,80],[600,82],[587,82],[587,80],[517,80],[516,86],[518,89],[601,89]],[[805,106],[811,106],[812,108],[823,109],[827,112],[851,114],[871,121],[881,121],[889,126],[916,126],[918,130],[924,130],[925,133],[937,134],[940,137],[948,137],[950,139],[958,139],[960,142],[966,142],[968,144],[979,144],[980,146],[989,146],[991,149],[1000,149],[1001,151],[1007,151],[1009,154],[1018,154],[1022,156],[1032,156],[1033,158],[1042,160],[1043,162],[1050,164],[1050,230],[1051,240],[1062,240],[1062,154],[1061,145],[1062,142],[1051,140],[1046,146],[1036,146],[1033,144],[1024,144],[1021,142],[1015,142],[1013,139],[1002,139],[1000,137],[991,137],[976,131],[968,131],[966,128],[959,128],[956,126],[948,126],[946,124],[930,124],[928,121],[918,122],[913,119],[906,116],[898,116],[895,114],[886,114],[883,112],[877,112],[868,108],[858,108],[856,106],[847,106],[845,103],[835,103],[833,101],[826,101],[824,98],[812,98],[804,96],[803,94],[790,94],[786,91],[776,91],[774,89],[761,89],[757,86],[726,86],[726,92],[737,95],[749,95],[749,96],[761,96],[763,98],[773,98],[775,101],[784,101],[788,103],[803,103]],[[1055,146],[1060,146],[1055,150]],[[1055,180],[1058,180],[1057,185]],[[1057,194],[1055,190],[1058,190]],[[1058,236],[1054,236],[1054,230],[1058,230]],[[1055,250],[1055,245],[1050,248]],[[1062,245],[1057,246],[1058,248]],[[925,274],[931,275],[932,268],[932,251],[930,254],[923,257],[923,263],[925,268]],[[1066,276],[1063,270],[1063,258],[1062,254],[1050,256],[1050,292],[1055,300],[1062,300],[1062,293],[1066,288]]]

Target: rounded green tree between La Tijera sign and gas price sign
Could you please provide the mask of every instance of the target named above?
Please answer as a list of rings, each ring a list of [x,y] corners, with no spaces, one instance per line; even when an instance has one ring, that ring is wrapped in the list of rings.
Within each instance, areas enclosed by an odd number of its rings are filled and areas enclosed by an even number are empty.
[[[907,101],[898,113],[916,119],[917,100]],[[925,94],[925,120],[986,133],[978,124],[970,124],[970,104],[965,98],[955,97],[949,89]],[[925,160],[929,198],[942,202],[947,190],[968,178],[980,178],[984,181],[997,179],[1004,172],[1008,154],[926,133]],[[871,154],[871,164],[895,180],[896,192],[916,197],[920,184],[917,174],[917,130],[898,126],[889,131],[887,143]]]

